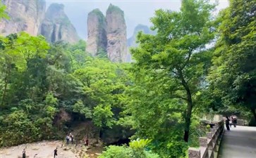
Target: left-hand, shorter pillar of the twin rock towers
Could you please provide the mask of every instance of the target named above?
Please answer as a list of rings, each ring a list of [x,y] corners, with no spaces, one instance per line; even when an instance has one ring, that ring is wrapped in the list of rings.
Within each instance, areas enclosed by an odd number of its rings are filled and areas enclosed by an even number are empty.
[[[99,9],[88,14],[87,18],[87,52],[93,56],[106,52],[106,18]]]

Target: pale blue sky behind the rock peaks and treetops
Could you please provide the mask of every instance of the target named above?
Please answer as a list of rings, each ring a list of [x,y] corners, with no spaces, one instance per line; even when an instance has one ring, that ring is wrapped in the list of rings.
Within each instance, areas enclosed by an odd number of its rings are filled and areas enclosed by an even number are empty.
[[[47,8],[52,3],[64,4],[65,12],[74,25],[78,35],[82,39],[87,39],[87,15],[95,8],[99,8],[104,15],[109,4],[118,6],[123,10],[126,26],[127,38],[133,35],[134,28],[139,25],[151,26],[150,18],[154,16],[157,9],[168,9],[179,11],[181,0],[46,0]],[[214,3],[215,0],[212,0]],[[217,11],[228,6],[228,0],[219,0]]]

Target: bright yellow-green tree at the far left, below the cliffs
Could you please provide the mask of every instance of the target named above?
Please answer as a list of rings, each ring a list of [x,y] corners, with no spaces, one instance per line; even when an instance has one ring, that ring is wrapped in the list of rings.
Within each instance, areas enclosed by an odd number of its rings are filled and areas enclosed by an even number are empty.
[[[49,44],[44,37],[31,37],[25,32],[19,34],[10,34],[8,37],[1,37],[0,54],[0,108],[8,103],[9,84],[13,73],[25,72],[29,61],[32,58],[45,58]]]

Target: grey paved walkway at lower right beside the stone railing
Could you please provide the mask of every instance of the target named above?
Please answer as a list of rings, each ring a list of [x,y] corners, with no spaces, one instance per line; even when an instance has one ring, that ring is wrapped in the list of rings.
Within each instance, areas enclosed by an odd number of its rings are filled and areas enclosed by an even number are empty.
[[[218,158],[256,158],[256,127],[232,126],[225,131]]]

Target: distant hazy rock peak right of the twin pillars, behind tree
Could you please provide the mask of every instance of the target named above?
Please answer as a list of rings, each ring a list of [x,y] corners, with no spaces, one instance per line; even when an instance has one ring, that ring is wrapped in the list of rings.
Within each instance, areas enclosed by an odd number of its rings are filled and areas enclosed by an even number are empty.
[[[144,34],[156,34],[156,32],[152,31],[149,27],[147,27],[147,25],[141,25],[141,24],[137,25],[134,29],[133,36],[127,40],[128,53],[126,55],[126,62],[132,61],[132,57],[129,52],[129,48],[138,46],[138,44],[136,43],[136,38],[137,38],[138,32],[140,32],[140,31],[142,31]]]

